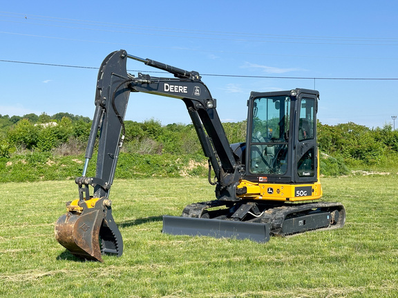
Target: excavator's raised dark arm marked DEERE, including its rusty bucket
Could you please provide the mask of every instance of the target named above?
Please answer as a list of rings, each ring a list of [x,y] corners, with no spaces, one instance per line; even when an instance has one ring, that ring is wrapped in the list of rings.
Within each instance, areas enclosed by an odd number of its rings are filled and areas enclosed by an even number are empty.
[[[135,77],[126,70],[128,59],[165,70],[174,77],[151,77],[141,73]],[[214,169],[217,199],[238,200],[236,187],[244,175],[244,167],[229,146],[216,111],[216,99],[211,97],[198,72],[134,57],[125,50],[113,52],[104,59],[98,73],[95,114],[84,169],[82,176],[75,179],[79,199],[66,203],[67,212],[55,225],[59,243],[77,257],[102,261],[101,255],[104,253],[120,256],[123,252],[122,235],[113,220],[109,192],[124,141],[124,115],[131,92],[151,93],[184,101],[203,152]],[[86,177],[97,139],[95,177]]]

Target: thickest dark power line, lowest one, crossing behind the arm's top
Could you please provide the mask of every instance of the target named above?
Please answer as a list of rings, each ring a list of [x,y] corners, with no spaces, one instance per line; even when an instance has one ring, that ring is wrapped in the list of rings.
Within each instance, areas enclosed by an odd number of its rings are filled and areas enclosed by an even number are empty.
[[[55,63],[39,63],[39,62],[28,62],[28,61],[15,61],[15,60],[4,60],[0,59],[0,62],[8,63],[21,63],[21,64],[31,64],[39,66],[55,66],[55,67],[65,67],[65,68],[86,68],[95,69],[99,68],[91,66],[72,66],[66,64],[55,64]],[[128,70],[129,72],[151,72],[151,73],[162,73],[167,74],[169,72],[160,71],[148,71],[148,70]],[[395,81],[398,78],[348,78],[348,77],[276,77],[276,76],[258,76],[258,75],[243,75],[243,74],[200,74],[207,77],[240,77],[240,78],[251,78],[251,79],[312,79],[312,80],[341,80],[341,81]]]

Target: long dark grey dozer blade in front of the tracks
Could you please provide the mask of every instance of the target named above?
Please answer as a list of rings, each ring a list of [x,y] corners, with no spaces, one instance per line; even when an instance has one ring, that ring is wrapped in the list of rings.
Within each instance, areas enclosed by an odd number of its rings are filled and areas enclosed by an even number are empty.
[[[221,219],[164,216],[162,232],[171,235],[250,239],[256,242],[269,241],[269,224]]]

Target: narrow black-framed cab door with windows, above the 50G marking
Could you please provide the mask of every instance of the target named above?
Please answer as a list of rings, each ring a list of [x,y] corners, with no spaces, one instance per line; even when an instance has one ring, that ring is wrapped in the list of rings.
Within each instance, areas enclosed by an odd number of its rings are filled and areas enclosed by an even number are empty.
[[[316,145],[316,111],[318,98],[314,94],[300,93],[296,101],[295,182],[310,183],[318,180],[318,149]]]

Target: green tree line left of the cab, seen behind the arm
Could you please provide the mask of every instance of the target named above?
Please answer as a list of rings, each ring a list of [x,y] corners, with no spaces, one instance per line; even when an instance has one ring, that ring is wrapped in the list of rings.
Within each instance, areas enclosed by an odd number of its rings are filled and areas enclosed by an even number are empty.
[[[149,155],[202,153],[192,124],[172,123],[162,126],[160,121],[149,119],[140,123],[125,121],[124,125],[124,152]],[[10,157],[11,154],[25,150],[52,151],[57,154],[62,151],[60,148],[68,146],[72,149],[61,154],[79,155],[82,147],[86,146],[90,129],[91,119],[68,113],[53,116],[29,114],[23,117],[0,115],[0,157]],[[225,123],[225,130],[232,143],[245,141],[245,121]],[[79,146],[76,146],[77,143]]]

